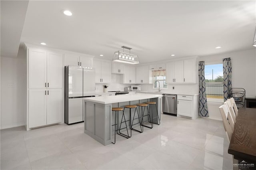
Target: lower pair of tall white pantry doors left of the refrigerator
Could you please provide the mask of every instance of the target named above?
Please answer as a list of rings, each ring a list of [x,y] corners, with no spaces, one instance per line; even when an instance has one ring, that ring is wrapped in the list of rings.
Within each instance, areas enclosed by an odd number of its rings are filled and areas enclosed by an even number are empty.
[[[62,89],[29,89],[28,128],[62,121]]]

